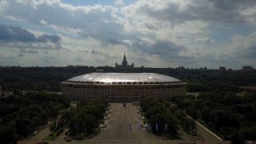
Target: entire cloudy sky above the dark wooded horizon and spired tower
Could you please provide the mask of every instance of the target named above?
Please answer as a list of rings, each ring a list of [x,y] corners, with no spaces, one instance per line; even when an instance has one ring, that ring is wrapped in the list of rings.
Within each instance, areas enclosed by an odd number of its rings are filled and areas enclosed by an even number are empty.
[[[0,0],[0,66],[256,67],[256,0]]]

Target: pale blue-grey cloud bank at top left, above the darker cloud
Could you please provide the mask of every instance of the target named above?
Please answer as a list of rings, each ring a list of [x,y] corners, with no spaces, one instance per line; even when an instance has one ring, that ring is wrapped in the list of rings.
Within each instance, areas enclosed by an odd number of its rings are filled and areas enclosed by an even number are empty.
[[[47,23],[55,28],[85,30],[88,36],[97,38],[111,30],[122,30],[122,21],[113,6],[70,6],[55,1],[7,1],[0,15],[12,15],[34,25]],[[114,33],[114,32],[113,32]]]

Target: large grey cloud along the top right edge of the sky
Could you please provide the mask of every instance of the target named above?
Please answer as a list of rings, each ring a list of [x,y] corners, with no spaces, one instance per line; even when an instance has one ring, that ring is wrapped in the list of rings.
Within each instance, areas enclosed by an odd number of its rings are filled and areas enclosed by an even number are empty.
[[[181,1],[182,2],[182,1]],[[189,1],[188,1],[189,2]],[[155,1],[157,4],[158,1]],[[191,0],[186,8],[182,8],[178,2],[165,2],[166,6],[161,9],[153,9],[154,2],[141,3],[134,13],[146,14],[151,18],[156,18],[173,25],[186,21],[202,20],[206,22],[248,22],[250,16],[241,14],[242,10],[247,10],[256,5],[255,0]],[[129,9],[127,10],[129,11]]]

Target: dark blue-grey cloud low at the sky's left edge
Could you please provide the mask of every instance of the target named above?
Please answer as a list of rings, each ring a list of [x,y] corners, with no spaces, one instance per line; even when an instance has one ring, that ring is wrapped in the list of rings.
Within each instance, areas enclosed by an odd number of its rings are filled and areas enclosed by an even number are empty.
[[[60,42],[58,35],[42,34],[38,38],[30,31],[19,26],[6,26],[0,24],[0,41],[4,42]]]

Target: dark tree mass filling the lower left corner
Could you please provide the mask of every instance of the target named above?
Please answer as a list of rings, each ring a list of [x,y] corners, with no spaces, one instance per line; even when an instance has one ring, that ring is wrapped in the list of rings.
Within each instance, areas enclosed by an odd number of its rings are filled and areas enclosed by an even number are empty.
[[[70,99],[65,95],[31,92],[0,98],[0,139],[2,143],[16,143],[56,118],[66,109]]]

